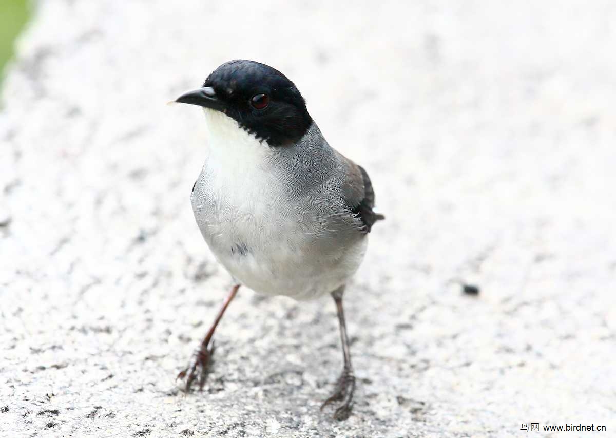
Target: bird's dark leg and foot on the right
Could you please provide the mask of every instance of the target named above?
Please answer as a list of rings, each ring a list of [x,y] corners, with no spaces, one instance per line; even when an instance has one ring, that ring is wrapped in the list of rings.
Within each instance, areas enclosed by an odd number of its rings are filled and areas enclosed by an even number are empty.
[[[344,355],[344,368],[342,374],[336,383],[336,391],[331,397],[321,405],[323,409],[331,402],[341,401],[341,404],[334,412],[336,420],[346,420],[351,415],[353,405],[353,392],[355,391],[355,376],[353,375],[353,367],[351,366],[351,352],[349,351],[349,337],[346,333],[346,323],[344,322],[344,310],[342,309],[342,294],[344,286],[336,289],[331,293],[336,302],[336,310],[338,310],[338,321],[340,323],[340,339],[342,340],[342,355]]]

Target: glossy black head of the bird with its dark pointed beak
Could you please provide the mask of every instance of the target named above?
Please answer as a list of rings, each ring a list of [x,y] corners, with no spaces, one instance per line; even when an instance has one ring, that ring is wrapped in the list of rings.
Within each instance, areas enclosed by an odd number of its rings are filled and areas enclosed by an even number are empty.
[[[270,146],[296,142],[312,123],[304,98],[285,75],[269,65],[243,59],[225,62],[203,87],[181,95],[176,102],[225,113]]]

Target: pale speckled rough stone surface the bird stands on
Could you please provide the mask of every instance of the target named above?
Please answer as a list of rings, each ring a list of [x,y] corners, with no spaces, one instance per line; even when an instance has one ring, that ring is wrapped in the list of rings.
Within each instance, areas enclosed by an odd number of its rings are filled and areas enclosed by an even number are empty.
[[[43,0],[20,41],[0,436],[613,434],[614,2],[206,3]],[[229,277],[188,201],[201,114],[165,103],[240,57],[295,81],[387,214],[347,290],[344,423],[318,410],[341,368],[329,298],[243,290],[205,391],[174,382]]]

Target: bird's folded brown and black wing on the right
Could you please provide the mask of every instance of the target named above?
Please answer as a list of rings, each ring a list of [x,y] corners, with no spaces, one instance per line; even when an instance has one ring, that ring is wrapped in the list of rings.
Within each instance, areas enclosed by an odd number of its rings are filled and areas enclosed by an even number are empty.
[[[341,154],[339,154],[339,157],[346,168],[345,178],[342,181],[342,197],[355,216],[362,221],[362,232],[369,233],[376,221],[385,219],[383,214],[376,213],[373,210],[375,207],[375,191],[372,188],[372,182],[368,172],[362,166],[355,164]]]

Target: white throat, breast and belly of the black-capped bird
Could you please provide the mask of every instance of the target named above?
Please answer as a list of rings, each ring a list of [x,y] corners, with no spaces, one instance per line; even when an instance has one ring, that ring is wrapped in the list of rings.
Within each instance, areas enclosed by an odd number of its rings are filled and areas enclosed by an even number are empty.
[[[288,195],[275,148],[232,118],[205,110],[209,155],[192,195],[197,224],[217,260],[264,294],[311,298],[345,283],[367,240],[318,253],[318,224]],[[317,253],[315,253],[317,251]]]

